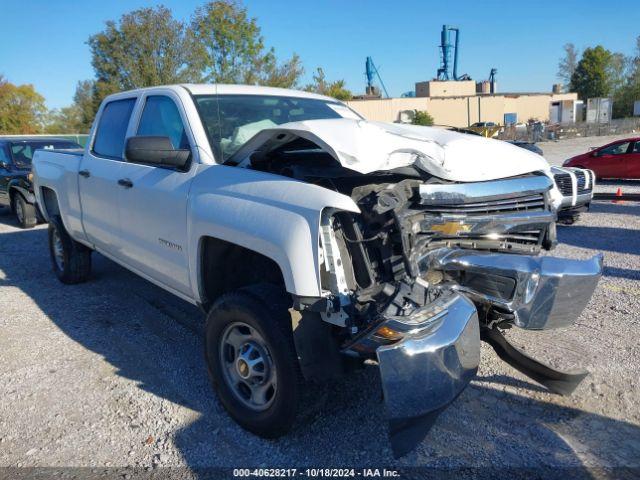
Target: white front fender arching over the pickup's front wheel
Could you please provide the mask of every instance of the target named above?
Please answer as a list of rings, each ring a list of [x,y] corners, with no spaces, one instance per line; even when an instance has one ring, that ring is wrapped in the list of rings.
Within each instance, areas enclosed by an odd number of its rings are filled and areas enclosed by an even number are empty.
[[[199,285],[201,240],[214,237],[274,260],[288,292],[320,296],[320,216],[359,212],[353,200],[317,185],[239,167],[198,167],[189,199],[192,285]],[[194,292],[202,299],[201,292]]]

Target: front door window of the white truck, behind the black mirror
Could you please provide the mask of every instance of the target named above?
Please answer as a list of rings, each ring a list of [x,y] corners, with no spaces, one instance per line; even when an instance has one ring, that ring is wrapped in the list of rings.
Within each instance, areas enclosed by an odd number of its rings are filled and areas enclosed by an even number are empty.
[[[169,137],[173,148],[188,149],[189,140],[178,107],[169,97],[147,97],[137,135]]]

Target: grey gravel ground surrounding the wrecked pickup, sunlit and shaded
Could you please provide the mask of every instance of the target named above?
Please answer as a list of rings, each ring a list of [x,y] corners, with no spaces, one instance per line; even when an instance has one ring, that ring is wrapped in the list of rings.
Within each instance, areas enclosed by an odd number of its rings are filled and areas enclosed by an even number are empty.
[[[0,466],[640,468],[640,204],[595,203],[558,230],[555,254],[602,251],[605,274],[574,327],[510,337],[591,375],[549,394],[483,344],[477,378],[396,460],[374,367],[288,436],[255,437],[212,394],[197,309],[99,255],[91,281],[63,286],[46,228],[0,213]]]

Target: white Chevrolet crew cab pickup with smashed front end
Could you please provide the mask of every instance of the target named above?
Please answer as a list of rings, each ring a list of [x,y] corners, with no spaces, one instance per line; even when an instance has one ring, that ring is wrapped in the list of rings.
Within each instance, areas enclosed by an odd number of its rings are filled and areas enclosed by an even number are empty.
[[[501,334],[570,325],[602,270],[538,255],[561,195],[521,148],[305,92],[176,85],[107,97],[86,150],[38,151],[33,173],[59,279],[87,280],[95,251],[200,305],[215,391],[258,435],[291,427],[303,382],[377,364],[402,455],[481,339],[554,392],[586,375]]]

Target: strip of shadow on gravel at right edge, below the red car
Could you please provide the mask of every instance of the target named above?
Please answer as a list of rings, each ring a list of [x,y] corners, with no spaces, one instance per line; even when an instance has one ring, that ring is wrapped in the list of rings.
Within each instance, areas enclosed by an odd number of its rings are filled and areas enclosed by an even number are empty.
[[[558,240],[596,251],[640,254],[640,232],[626,228],[558,225]]]

